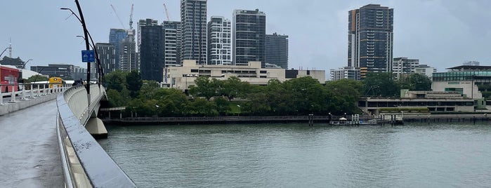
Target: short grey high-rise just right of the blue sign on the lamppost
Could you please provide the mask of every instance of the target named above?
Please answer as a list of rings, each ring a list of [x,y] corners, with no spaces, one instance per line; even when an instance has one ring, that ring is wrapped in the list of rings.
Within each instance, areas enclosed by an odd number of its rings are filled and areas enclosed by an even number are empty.
[[[113,72],[114,70],[117,69],[115,64],[117,55],[114,49],[114,44],[96,43],[96,51],[99,55],[100,66],[102,67],[104,74]]]

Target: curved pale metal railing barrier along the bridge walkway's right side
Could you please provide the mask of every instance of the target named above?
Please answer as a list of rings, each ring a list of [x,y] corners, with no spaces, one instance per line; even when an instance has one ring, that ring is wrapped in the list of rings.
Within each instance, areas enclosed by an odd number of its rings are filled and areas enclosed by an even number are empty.
[[[83,87],[72,87],[58,95],[58,145],[67,187],[136,187],[98,142],[84,128],[104,88],[91,86],[91,105]],[[94,93],[94,94],[92,94]],[[70,105],[73,105],[70,107]]]

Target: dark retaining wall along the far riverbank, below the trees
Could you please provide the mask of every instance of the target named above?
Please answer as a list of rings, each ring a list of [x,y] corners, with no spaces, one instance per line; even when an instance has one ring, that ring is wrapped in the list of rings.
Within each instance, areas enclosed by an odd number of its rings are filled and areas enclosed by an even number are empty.
[[[404,122],[476,122],[490,121],[487,114],[398,114]],[[389,115],[390,116],[390,115]],[[181,124],[223,124],[223,123],[329,123],[342,116],[213,116],[213,117],[126,117],[105,118],[106,125],[181,125]],[[351,116],[346,117],[351,121]],[[360,121],[384,119],[382,116],[360,116]],[[390,122],[388,123],[390,124]]]

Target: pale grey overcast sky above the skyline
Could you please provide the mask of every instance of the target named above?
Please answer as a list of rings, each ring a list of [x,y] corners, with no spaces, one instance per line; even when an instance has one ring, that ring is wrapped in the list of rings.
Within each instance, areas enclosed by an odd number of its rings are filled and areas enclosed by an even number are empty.
[[[171,20],[180,20],[179,0],[80,0],[87,28],[94,42],[108,42],[110,28],[129,28],[131,4],[133,27],[140,19],[166,20],[165,3]],[[116,9],[123,25],[111,8]],[[289,67],[337,69],[347,65],[348,11],[366,4],[394,8],[394,57],[419,59],[445,68],[476,60],[490,65],[491,1],[327,1],[327,0],[209,0],[208,19],[221,15],[232,20],[234,9],[266,13],[266,33],[289,35]],[[12,41],[12,57],[33,59],[27,65],[67,63],[85,67],[81,25],[61,7],[77,6],[70,0],[2,0],[0,2],[0,51]],[[4,53],[8,55],[8,51]],[[329,79],[329,78],[327,78]]]

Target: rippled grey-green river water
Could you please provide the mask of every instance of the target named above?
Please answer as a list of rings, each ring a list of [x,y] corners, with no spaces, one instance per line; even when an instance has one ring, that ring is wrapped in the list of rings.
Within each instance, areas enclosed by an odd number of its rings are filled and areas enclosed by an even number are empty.
[[[489,124],[108,126],[138,187],[487,187]]]

